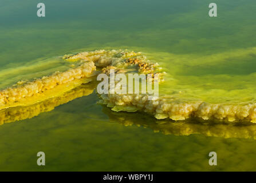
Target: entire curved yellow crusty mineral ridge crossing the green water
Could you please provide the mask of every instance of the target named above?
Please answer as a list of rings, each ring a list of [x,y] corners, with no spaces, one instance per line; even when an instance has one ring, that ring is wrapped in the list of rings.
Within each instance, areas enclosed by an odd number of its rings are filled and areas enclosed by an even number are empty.
[[[9,87],[0,92],[0,109],[14,106],[33,105],[49,97],[72,90],[85,83],[83,79],[91,78],[97,70],[109,74],[109,69],[120,73],[160,73],[164,72],[157,63],[152,63],[140,52],[128,50],[96,50],[64,55],[63,59],[70,63],[79,63],[62,73],[56,72],[49,77],[42,77],[31,82],[19,82],[17,86]],[[95,78],[94,78],[95,79]],[[161,80],[163,81],[163,79]],[[87,81],[88,82],[88,81]],[[160,85],[161,87],[161,85]],[[210,104],[198,100],[186,100],[172,95],[160,93],[155,100],[148,100],[148,94],[101,94],[100,103],[106,104],[112,110],[135,112],[137,110],[152,114],[157,119],[186,120],[202,118],[219,122],[256,122],[256,104]]]

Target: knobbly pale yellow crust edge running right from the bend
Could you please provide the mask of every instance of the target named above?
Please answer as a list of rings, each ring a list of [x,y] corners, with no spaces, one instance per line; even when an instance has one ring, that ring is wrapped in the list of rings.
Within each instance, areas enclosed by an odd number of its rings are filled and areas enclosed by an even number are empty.
[[[153,114],[157,119],[186,120],[188,118],[202,118],[203,120],[219,121],[256,121],[256,105],[221,105],[205,102],[182,102],[170,97],[157,97],[148,100],[142,94],[103,94],[101,104],[108,104],[113,110],[129,111],[129,106],[136,110]],[[134,108],[133,108],[134,110]]]

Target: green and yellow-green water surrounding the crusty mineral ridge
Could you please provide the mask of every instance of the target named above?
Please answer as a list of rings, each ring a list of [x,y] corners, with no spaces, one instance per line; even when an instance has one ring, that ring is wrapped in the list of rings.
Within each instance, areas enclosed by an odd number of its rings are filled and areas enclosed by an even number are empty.
[[[219,103],[254,102],[256,2],[41,1],[0,4],[0,88],[69,63],[59,56],[96,49],[143,51],[167,71],[164,94]],[[78,89],[80,90],[80,89]],[[0,170],[256,170],[254,125],[207,125],[116,113],[84,94],[50,112],[0,126]],[[10,115],[11,116],[11,115]],[[30,116],[31,117],[31,116]],[[46,165],[37,165],[37,152]],[[208,165],[208,153],[218,165]]]

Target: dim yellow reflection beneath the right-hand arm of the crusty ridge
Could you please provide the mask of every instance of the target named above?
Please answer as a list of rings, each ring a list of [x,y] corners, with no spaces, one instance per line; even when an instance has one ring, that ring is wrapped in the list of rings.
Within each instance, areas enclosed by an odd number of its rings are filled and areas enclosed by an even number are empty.
[[[203,134],[207,137],[224,138],[253,138],[256,139],[256,125],[245,124],[218,124],[215,122],[199,122],[198,119],[186,121],[156,120],[145,113],[113,112],[107,107],[103,112],[108,115],[111,122],[118,122],[124,126],[143,126],[153,132],[165,135],[189,136],[191,134]]]

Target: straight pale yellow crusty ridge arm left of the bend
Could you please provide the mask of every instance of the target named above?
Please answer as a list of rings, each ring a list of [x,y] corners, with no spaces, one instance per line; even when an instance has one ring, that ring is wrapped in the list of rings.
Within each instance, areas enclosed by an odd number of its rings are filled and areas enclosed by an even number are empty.
[[[65,72],[56,72],[49,77],[42,77],[31,82],[18,82],[17,86],[9,87],[0,92],[0,109],[11,106],[25,105],[27,102],[33,104],[38,100],[52,94],[53,90],[60,93],[66,84],[76,79],[91,77],[96,70],[92,61],[81,61],[80,66]]]

